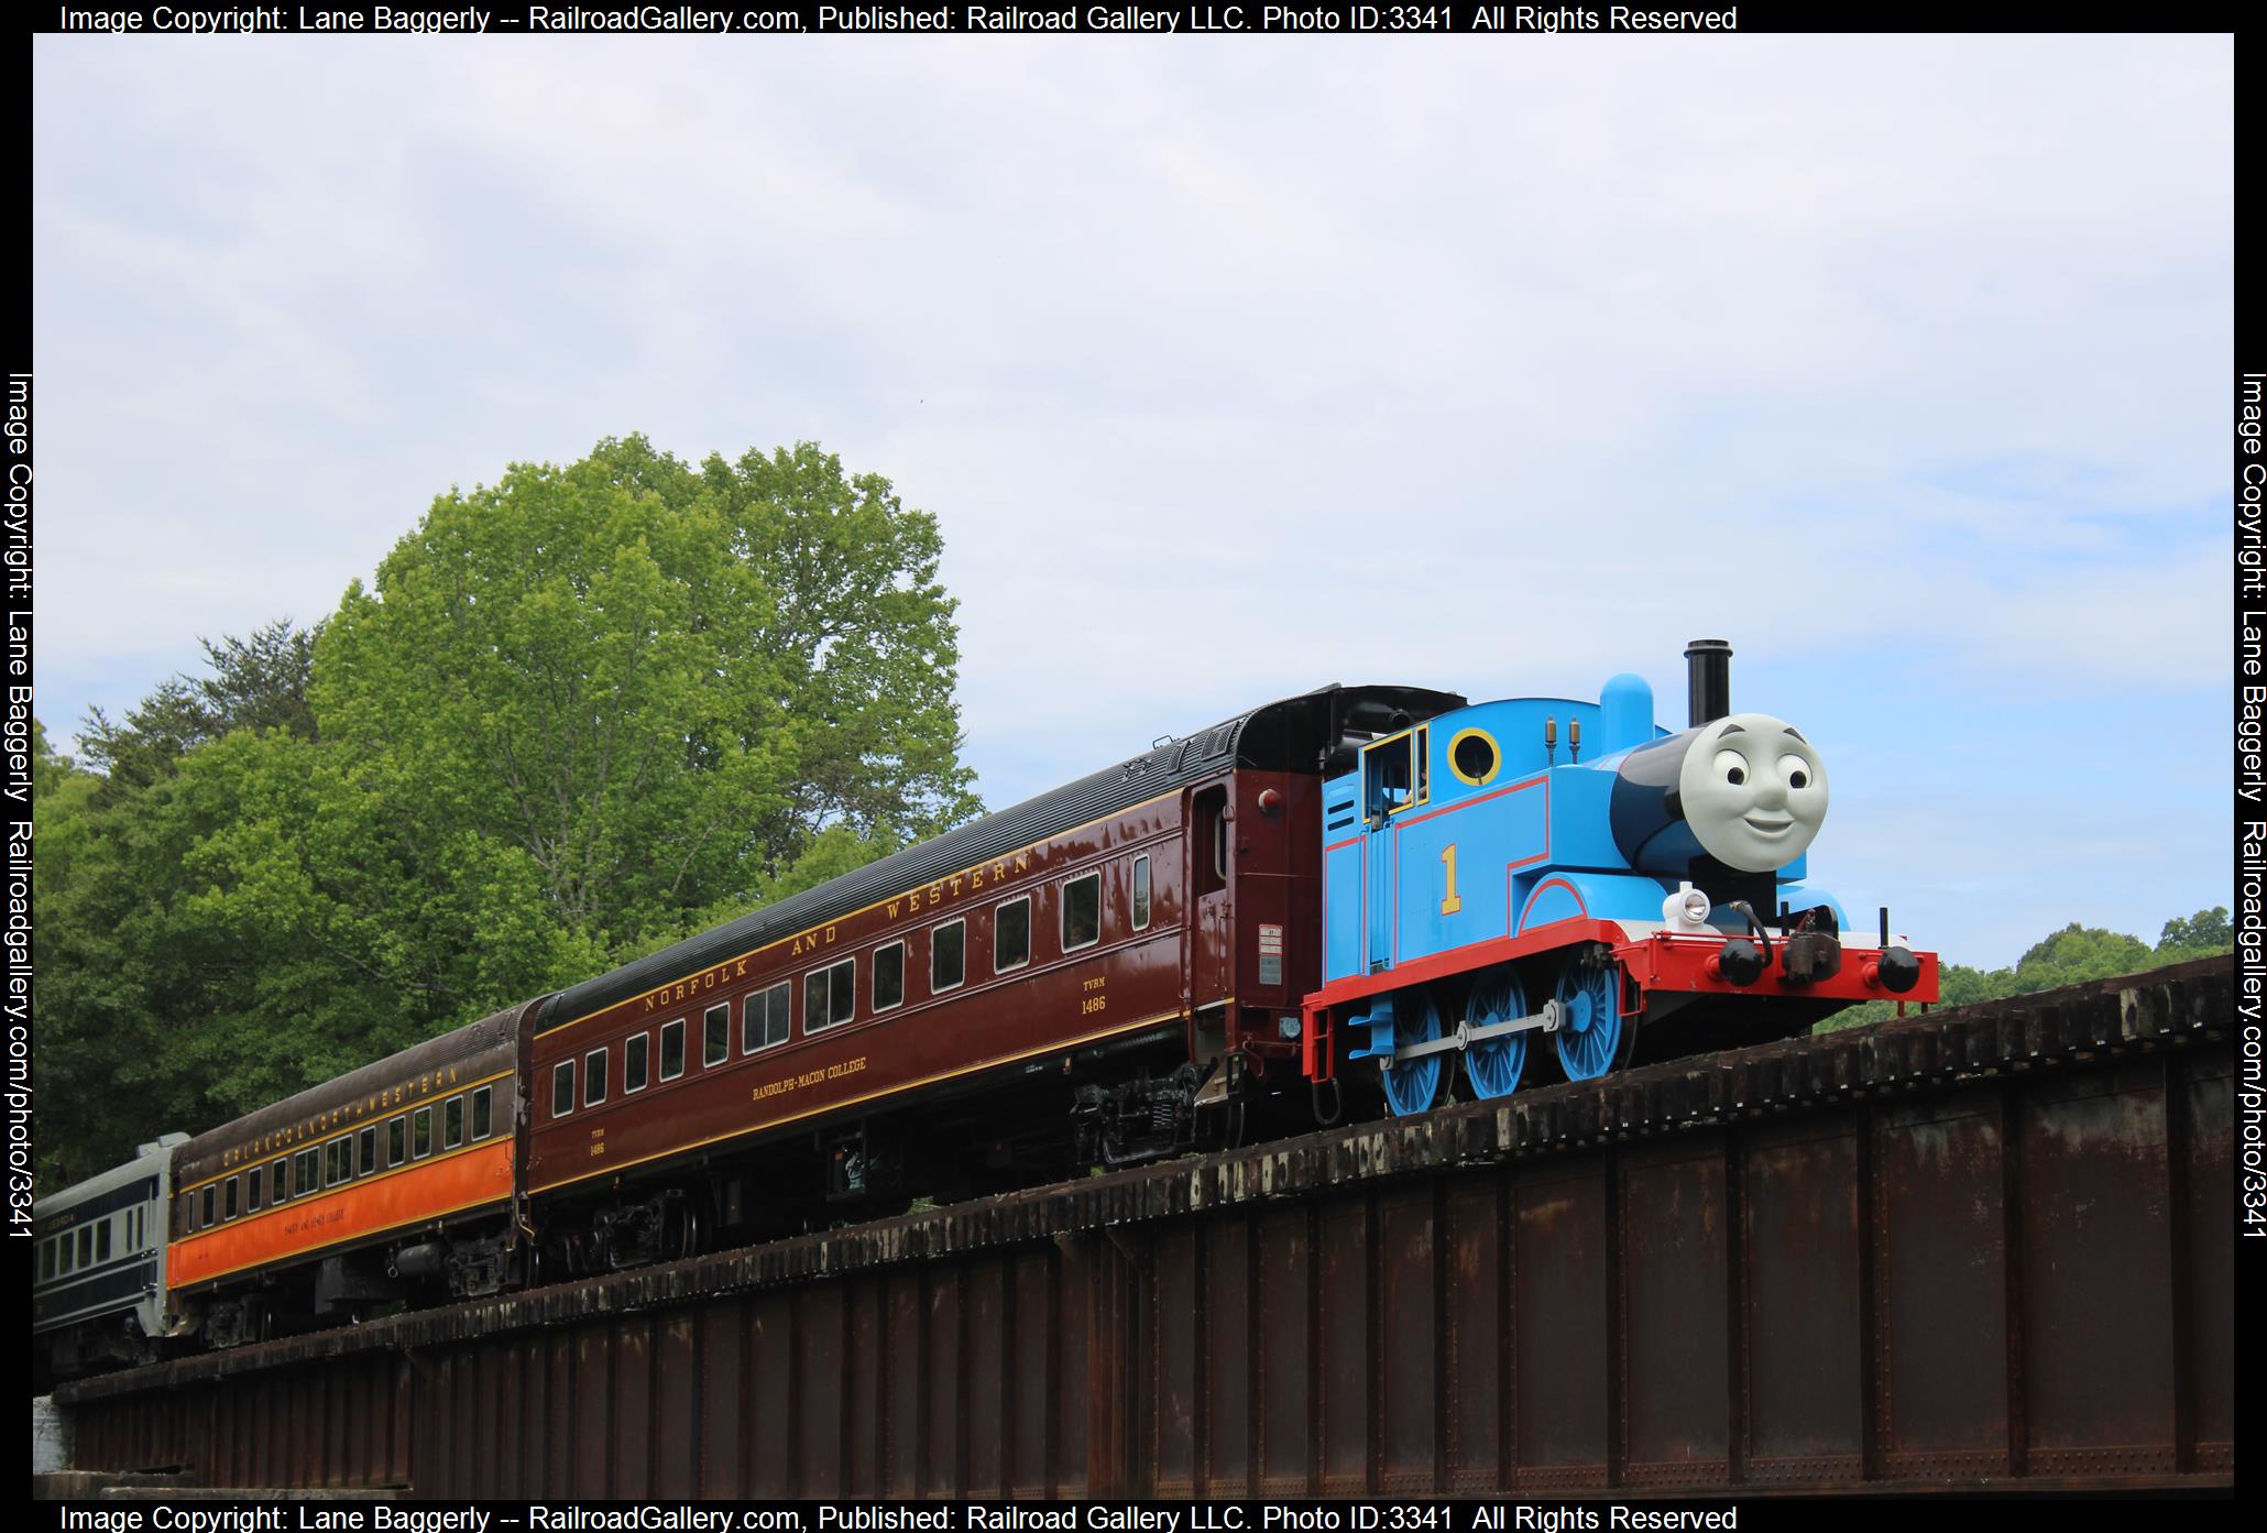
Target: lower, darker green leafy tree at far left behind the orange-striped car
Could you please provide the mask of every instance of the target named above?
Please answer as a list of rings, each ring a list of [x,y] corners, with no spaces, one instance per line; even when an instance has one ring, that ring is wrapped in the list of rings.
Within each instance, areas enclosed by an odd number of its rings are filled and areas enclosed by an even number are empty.
[[[315,744],[236,730],[107,810],[36,807],[39,1073],[75,1179],[589,973],[521,853],[401,835]],[[61,835],[57,835],[61,832]]]

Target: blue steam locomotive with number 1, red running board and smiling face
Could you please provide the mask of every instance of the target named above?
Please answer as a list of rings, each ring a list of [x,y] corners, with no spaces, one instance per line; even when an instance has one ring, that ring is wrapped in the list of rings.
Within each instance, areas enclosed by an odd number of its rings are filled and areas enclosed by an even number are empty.
[[[1614,676],[1596,703],[1503,698],[1385,732],[1324,782],[1324,973],[1301,1061],[1376,1061],[1421,1113],[1453,1057],[1471,1095],[1628,1064],[1675,1016],[1678,1052],[1784,1036],[1861,1000],[1936,1000],[1936,955],[1868,937],[1809,882],[1827,814],[1818,748],[1732,712],[1723,640],[1693,640],[1691,723]],[[1351,1030],[1340,1048],[1340,1027]]]

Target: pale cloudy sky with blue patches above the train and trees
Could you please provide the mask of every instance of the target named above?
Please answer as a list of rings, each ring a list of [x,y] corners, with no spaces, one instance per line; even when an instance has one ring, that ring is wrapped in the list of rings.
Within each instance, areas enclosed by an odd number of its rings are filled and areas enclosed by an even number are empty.
[[[630,431],[936,515],[1002,807],[1734,644],[1947,959],[2231,900],[2226,36],[34,39],[39,717]]]

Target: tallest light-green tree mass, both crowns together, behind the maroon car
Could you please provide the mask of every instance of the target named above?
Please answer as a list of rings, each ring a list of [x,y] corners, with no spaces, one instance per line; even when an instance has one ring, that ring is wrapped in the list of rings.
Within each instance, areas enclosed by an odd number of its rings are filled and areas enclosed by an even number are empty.
[[[644,438],[440,497],[315,655],[358,780],[526,850],[560,921],[646,950],[814,837],[975,810],[932,517],[803,444],[698,472]]]

